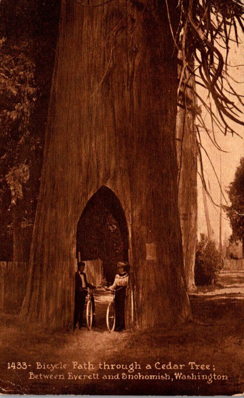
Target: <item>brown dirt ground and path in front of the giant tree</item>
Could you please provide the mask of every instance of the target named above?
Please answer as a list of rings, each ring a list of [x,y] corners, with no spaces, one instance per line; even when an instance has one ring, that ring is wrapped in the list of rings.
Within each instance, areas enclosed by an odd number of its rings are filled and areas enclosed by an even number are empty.
[[[190,296],[193,321],[166,328],[148,327],[123,333],[106,330],[106,304],[97,301],[97,326],[74,333],[48,333],[37,325],[24,324],[17,315],[1,316],[0,386],[7,394],[146,394],[146,395],[233,395],[244,392],[244,272],[224,272],[219,288]],[[222,287],[220,287],[222,285]],[[94,369],[73,369],[73,362]],[[11,368],[26,362],[27,369]],[[37,362],[42,369],[37,369]],[[47,370],[43,363],[67,364],[67,369]],[[104,362],[115,369],[99,369]],[[196,365],[205,369],[195,369]],[[8,363],[10,369],[7,369]],[[92,364],[92,365],[91,365]],[[122,365],[128,369],[118,369]],[[166,365],[166,369],[157,369]],[[30,365],[30,366],[29,366]],[[151,369],[149,366],[150,365]],[[169,369],[185,365],[182,369]],[[210,365],[210,369],[206,369]],[[20,365],[18,365],[20,366]],[[25,367],[24,365],[22,365]],[[124,367],[123,366],[123,367]],[[135,367],[137,366],[137,369]],[[194,370],[191,369],[194,367]],[[140,367],[140,369],[138,369]],[[29,379],[34,375],[64,374],[64,380]],[[68,379],[82,375],[82,379]],[[176,380],[175,373],[207,380]],[[150,378],[169,375],[169,380]],[[98,374],[98,376],[97,376]],[[126,379],[122,379],[124,374]],[[216,376],[214,376],[214,374]],[[84,375],[92,375],[85,379]],[[103,379],[103,375],[118,379]],[[212,375],[212,376],[210,376]],[[137,376],[137,377],[136,377]],[[214,380],[227,376],[228,380]],[[99,377],[99,380],[97,380]],[[128,379],[130,377],[130,379]],[[142,381],[141,378],[144,377]],[[212,380],[211,380],[212,378]]]

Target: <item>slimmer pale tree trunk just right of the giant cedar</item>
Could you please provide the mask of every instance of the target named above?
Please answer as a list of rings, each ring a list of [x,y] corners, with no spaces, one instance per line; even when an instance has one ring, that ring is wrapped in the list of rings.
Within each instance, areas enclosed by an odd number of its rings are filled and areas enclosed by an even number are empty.
[[[194,69],[194,64],[191,64],[191,68]],[[193,291],[197,244],[197,141],[194,128],[196,103],[194,77],[190,77],[186,71],[185,79],[190,87],[185,89],[181,99],[182,107],[178,107],[176,140],[184,270],[187,289]]]

